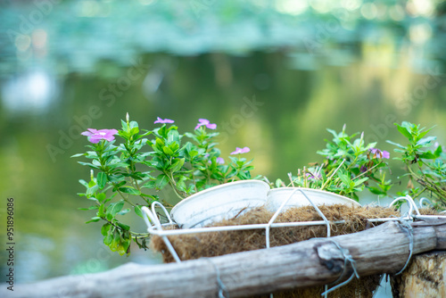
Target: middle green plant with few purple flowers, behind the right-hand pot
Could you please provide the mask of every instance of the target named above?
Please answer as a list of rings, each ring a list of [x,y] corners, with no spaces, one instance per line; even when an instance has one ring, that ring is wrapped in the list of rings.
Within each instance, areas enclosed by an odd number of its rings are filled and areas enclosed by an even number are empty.
[[[367,188],[376,195],[387,195],[392,186],[385,180],[390,153],[375,148],[376,143],[365,144],[364,133],[349,136],[345,125],[340,133],[327,129],[333,135],[326,140],[326,148],[318,151],[325,160],[297,171],[297,176],[289,174],[288,186],[318,188],[335,194],[351,197],[359,201],[358,193]],[[356,137],[356,138],[355,138]],[[277,186],[285,186],[277,180]]]

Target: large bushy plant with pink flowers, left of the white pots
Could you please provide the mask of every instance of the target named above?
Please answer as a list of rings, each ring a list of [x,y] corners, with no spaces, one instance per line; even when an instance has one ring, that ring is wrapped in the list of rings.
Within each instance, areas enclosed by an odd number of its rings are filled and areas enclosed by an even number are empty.
[[[73,155],[90,160],[78,161],[93,169],[90,181],[79,180],[86,187],[79,195],[94,202],[87,210],[95,210],[95,217],[87,222],[105,221],[103,242],[112,251],[129,253],[132,239],[145,247],[148,235],[131,231],[120,216],[134,211],[143,217],[143,206],[161,201],[153,190],[170,186],[183,199],[211,186],[252,178],[252,160],[241,157],[250,149],[237,147],[226,162],[214,142],[219,135],[214,132],[217,125],[209,120],[200,119],[194,131],[184,135],[179,134],[174,120],[158,118],[154,124],[159,126],[153,130],[140,129],[128,115],[121,122],[120,130],[89,128],[83,132],[91,143],[87,145],[90,151]],[[115,136],[120,137],[120,144]]]

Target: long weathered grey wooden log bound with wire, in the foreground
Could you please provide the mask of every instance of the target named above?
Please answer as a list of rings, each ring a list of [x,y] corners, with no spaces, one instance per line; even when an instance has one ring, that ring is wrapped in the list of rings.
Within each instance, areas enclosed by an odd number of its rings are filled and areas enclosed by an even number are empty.
[[[351,235],[318,238],[270,249],[239,252],[215,258],[145,266],[128,264],[110,271],[59,277],[17,285],[0,297],[243,297],[293,287],[330,284],[353,272],[344,255],[355,261],[359,277],[395,273],[413,254],[446,249],[446,221],[413,224],[397,222]],[[343,248],[344,252],[338,248]],[[222,293],[223,294],[223,293]]]

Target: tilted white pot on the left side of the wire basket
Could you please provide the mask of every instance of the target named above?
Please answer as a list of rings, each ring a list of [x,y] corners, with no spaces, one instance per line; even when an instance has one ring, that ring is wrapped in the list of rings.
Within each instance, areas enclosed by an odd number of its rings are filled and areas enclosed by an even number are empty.
[[[242,180],[213,186],[184,199],[170,211],[179,228],[201,228],[231,219],[267,201],[269,186],[260,180]]]

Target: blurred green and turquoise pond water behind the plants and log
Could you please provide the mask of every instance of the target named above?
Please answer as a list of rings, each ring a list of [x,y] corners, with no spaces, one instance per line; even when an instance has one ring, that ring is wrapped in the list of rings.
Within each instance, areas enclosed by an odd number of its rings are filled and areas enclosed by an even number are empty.
[[[207,118],[222,156],[249,146],[270,179],[321,161],[326,128],[344,123],[391,153],[395,121],[436,125],[444,144],[445,13],[438,0],[0,2],[0,216],[13,197],[16,282],[160,262],[110,252],[77,209],[80,132],[120,128],[126,112],[143,128]]]

